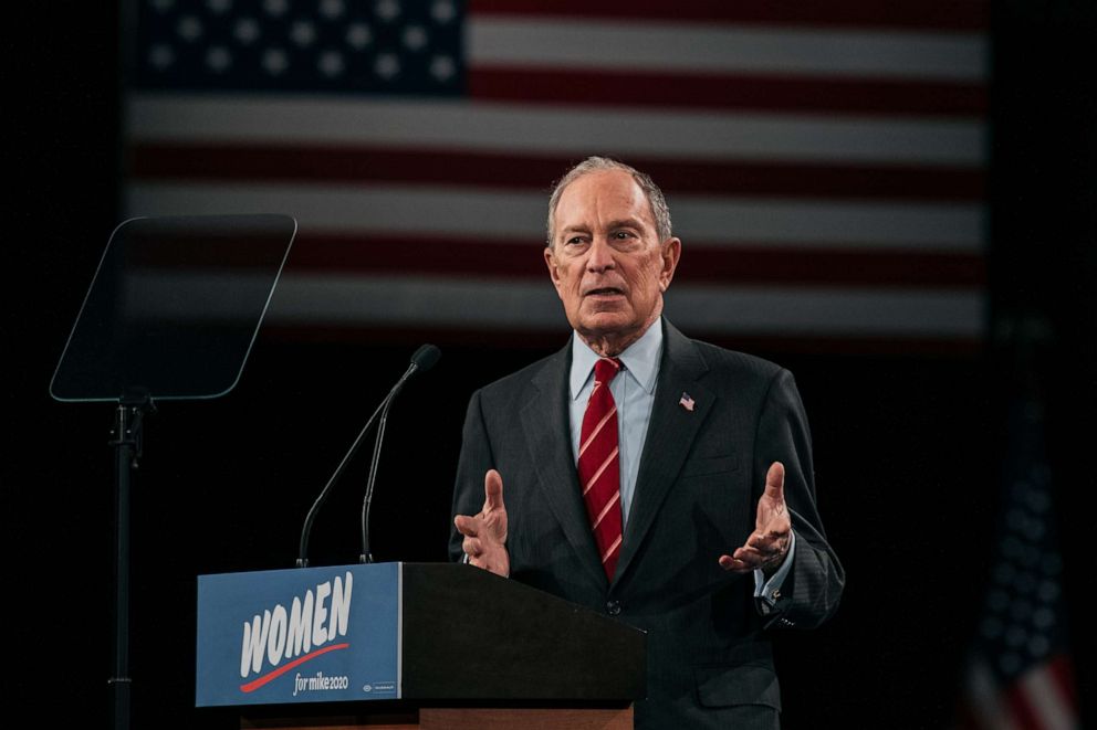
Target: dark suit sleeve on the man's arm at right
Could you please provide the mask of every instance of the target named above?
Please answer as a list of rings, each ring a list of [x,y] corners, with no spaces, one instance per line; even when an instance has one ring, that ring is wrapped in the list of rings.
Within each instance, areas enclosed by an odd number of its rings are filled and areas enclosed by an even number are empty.
[[[765,625],[812,628],[838,607],[845,571],[823,530],[815,501],[807,415],[787,370],[780,370],[770,383],[755,444],[754,475],[761,475],[756,484],[764,486],[764,475],[773,462],[785,466],[785,502],[796,533],[792,569],[781,586],[781,596],[765,615]],[[762,486],[758,487],[759,494]]]

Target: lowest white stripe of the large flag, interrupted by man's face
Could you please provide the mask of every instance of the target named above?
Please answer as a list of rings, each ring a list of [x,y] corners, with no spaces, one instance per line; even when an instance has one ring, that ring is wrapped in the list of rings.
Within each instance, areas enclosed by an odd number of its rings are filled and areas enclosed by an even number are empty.
[[[292,261],[292,254],[291,254]],[[847,290],[675,284],[667,314],[687,331],[717,335],[979,337],[985,303],[973,290]],[[270,321],[297,326],[480,327],[567,331],[547,278],[283,274]],[[562,335],[563,336],[563,335]]]

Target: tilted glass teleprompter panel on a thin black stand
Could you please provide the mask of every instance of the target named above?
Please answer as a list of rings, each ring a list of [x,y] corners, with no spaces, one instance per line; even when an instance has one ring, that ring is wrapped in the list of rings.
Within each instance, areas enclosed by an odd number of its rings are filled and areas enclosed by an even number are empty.
[[[155,403],[224,395],[240,379],[296,234],[286,215],[135,218],[115,229],[50,382],[115,403],[113,727],[128,730],[129,496]]]

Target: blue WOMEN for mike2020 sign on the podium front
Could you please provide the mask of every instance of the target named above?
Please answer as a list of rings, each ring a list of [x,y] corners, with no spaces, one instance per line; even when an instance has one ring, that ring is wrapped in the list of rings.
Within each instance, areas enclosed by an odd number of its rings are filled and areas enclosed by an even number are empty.
[[[403,563],[198,578],[195,703],[400,697]]]

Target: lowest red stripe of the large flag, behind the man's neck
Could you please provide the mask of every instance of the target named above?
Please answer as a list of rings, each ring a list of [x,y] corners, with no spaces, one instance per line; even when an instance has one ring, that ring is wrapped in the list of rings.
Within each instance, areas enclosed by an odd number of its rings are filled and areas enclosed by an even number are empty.
[[[690,337],[707,340],[733,350],[758,355],[876,355],[906,358],[916,355],[969,359],[982,352],[983,342],[974,337],[853,337],[853,336],[736,336],[691,329]],[[372,345],[406,345],[417,347],[425,341],[446,347],[499,348],[511,352],[526,350],[530,360],[546,351],[557,350],[567,342],[570,330],[561,318],[556,329],[471,328],[453,327],[361,327],[335,325],[280,325],[264,321],[259,330],[263,340],[282,342],[367,342]]]

